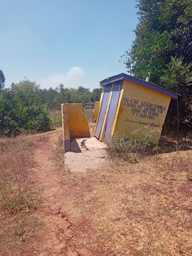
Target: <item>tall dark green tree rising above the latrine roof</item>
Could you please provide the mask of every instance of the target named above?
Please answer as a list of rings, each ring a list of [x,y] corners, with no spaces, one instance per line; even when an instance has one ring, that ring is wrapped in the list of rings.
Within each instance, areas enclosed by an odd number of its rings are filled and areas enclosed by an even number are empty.
[[[139,23],[132,48],[122,56],[128,72],[160,84],[159,76],[171,56],[192,61],[191,0],[140,0]]]

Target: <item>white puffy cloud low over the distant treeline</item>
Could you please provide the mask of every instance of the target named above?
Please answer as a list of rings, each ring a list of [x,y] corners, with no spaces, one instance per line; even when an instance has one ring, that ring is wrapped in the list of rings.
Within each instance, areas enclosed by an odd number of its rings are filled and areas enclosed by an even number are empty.
[[[72,67],[66,74],[53,74],[48,77],[40,79],[37,83],[40,83],[40,87],[49,89],[52,87],[55,89],[60,83],[64,84],[64,87],[78,88],[83,86],[83,78],[86,73],[79,67]]]

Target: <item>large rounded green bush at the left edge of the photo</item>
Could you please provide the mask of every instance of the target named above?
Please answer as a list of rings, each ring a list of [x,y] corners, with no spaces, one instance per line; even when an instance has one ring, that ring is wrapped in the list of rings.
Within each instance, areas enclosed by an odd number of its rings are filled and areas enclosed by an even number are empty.
[[[38,99],[38,86],[29,80],[12,84],[0,100],[0,133],[17,135],[22,130],[45,132],[50,129],[48,106]]]

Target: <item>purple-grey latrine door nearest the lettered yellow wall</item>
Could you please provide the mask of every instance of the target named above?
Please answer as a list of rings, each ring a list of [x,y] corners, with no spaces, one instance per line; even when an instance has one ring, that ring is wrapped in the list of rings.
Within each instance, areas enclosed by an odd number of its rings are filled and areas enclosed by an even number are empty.
[[[106,140],[112,139],[111,133],[112,133],[112,129],[113,129],[113,124],[114,124],[114,120],[115,120],[115,114],[117,111],[117,105],[119,102],[121,88],[122,88],[122,83],[114,84],[111,103],[110,103],[109,112],[108,112],[108,117],[106,118],[104,133],[103,133]]]

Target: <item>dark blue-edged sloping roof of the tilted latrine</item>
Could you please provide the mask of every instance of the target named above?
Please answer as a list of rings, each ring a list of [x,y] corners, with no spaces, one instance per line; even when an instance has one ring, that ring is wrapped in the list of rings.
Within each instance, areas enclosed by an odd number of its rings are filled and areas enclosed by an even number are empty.
[[[121,80],[128,80],[128,81],[137,83],[140,86],[144,86],[148,89],[151,89],[151,90],[157,91],[159,93],[168,95],[168,96],[172,97],[173,99],[177,99],[178,96],[180,95],[180,94],[177,94],[175,92],[169,91],[169,90],[167,90],[163,87],[157,86],[154,83],[146,82],[142,79],[139,79],[139,78],[134,77],[134,76],[127,75],[125,73],[121,73],[121,74],[118,74],[118,75],[115,75],[115,76],[111,76],[111,77],[108,77],[108,78],[100,81],[100,86],[106,86],[107,84],[117,82],[117,81],[121,81]]]

